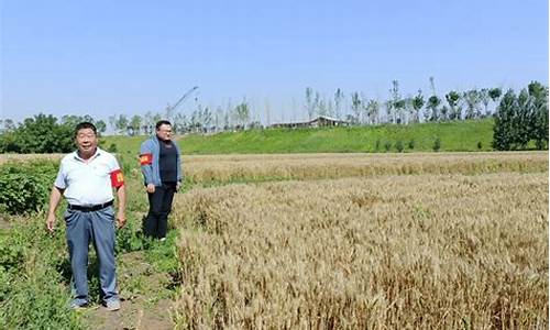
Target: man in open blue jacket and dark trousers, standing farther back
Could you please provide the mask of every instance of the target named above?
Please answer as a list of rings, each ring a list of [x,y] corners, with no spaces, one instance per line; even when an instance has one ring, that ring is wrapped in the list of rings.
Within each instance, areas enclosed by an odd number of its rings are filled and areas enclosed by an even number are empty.
[[[182,156],[179,147],[172,141],[169,121],[157,122],[156,135],[142,143],[140,164],[148,195],[144,232],[146,237],[164,241],[174,193],[182,184]]]

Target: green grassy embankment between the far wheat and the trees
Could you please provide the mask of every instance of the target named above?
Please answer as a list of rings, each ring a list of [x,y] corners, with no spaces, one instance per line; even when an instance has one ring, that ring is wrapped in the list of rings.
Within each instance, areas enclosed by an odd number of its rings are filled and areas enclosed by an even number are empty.
[[[442,152],[491,151],[493,124],[493,119],[484,119],[410,125],[268,129],[213,135],[190,134],[178,139],[178,143],[184,154],[386,152],[386,144],[391,144],[388,152],[397,152],[399,141],[403,152],[430,152],[439,138]],[[106,136],[103,146],[114,143],[119,153],[135,155],[145,139]]]

